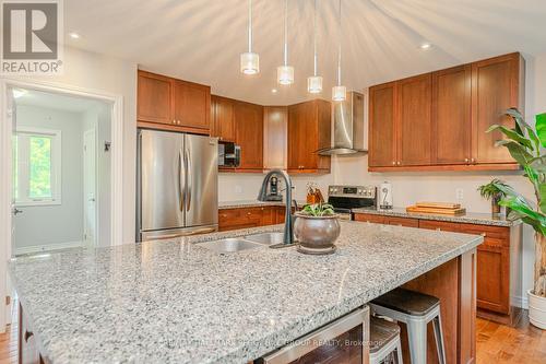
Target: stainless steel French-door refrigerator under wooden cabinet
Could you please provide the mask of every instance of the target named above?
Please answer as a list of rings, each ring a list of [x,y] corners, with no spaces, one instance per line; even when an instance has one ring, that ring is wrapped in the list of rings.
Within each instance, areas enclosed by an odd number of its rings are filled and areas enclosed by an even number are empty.
[[[139,130],[138,142],[138,240],[216,231],[217,139]]]

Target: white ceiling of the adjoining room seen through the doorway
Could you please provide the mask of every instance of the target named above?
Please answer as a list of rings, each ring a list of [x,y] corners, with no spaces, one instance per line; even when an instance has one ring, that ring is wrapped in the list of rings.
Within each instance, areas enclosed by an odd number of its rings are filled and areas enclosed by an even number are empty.
[[[106,103],[85,97],[74,97],[36,90],[17,89],[15,105],[37,106],[70,113],[84,113],[96,107],[106,107]]]

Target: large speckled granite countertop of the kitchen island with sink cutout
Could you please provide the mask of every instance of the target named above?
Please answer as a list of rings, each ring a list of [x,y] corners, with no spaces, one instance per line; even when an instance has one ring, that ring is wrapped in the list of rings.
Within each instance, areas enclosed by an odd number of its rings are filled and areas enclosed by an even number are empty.
[[[342,222],[336,254],[199,245],[281,225],[9,265],[51,363],[244,363],[475,248],[482,236]],[[197,243],[197,244],[195,244]]]

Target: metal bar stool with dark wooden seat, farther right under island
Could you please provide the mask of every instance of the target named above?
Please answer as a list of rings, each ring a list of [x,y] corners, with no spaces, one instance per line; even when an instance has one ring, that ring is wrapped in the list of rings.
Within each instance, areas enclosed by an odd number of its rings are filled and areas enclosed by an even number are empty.
[[[395,289],[373,300],[370,307],[377,315],[390,317],[407,326],[412,364],[427,363],[427,325],[432,321],[438,360],[440,364],[446,364],[439,298]]]

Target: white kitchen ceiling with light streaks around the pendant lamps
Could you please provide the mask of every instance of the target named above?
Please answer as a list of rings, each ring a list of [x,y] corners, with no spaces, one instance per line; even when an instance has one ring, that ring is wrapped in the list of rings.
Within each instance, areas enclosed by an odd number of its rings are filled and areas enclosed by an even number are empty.
[[[69,0],[64,28],[75,47],[138,62],[142,69],[209,84],[212,92],[264,105],[308,98],[312,0],[289,0],[289,63],[296,83],[276,85],[283,0],[253,1],[260,74],[239,72],[247,0]],[[336,5],[319,0],[322,97],[335,81]],[[544,0],[343,0],[343,83],[353,90],[511,51],[546,52]],[[419,45],[430,42],[431,49]],[[70,67],[70,64],[67,64]],[[280,92],[272,94],[271,89]]]

